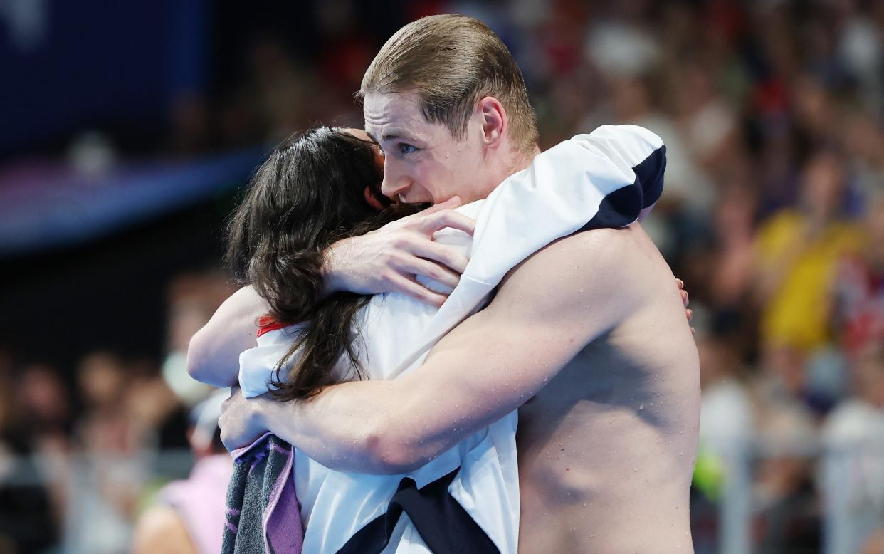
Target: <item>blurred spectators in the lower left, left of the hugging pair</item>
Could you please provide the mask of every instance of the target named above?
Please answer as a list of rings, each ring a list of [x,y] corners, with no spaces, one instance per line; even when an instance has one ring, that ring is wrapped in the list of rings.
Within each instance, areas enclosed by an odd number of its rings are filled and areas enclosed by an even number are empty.
[[[0,552],[129,551],[160,486],[205,454],[190,412],[211,389],[184,357],[232,291],[220,274],[171,281],[163,360],[103,350],[62,372],[0,351]]]

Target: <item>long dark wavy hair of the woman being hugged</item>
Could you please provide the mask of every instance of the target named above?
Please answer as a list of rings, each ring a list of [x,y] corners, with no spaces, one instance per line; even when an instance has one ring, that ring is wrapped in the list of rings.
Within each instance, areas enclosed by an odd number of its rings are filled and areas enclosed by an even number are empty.
[[[418,209],[380,194],[382,172],[372,142],[337,127],[316,127],[272,151],[233,213],[228,262],[270,305],[272,319],[303,323],[275,368],[278,400],[309,398],[338,382],[343,376],[334,370],[344,355],[350,376],[365,376],[354,318],[370,296],[338,292],[319,299],[324,251],[333,242]],[[368,195],[383,209],[372,207]]]

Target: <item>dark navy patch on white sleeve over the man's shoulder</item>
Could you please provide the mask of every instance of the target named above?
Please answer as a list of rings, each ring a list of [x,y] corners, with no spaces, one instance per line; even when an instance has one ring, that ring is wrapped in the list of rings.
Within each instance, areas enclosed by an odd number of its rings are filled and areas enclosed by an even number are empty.
[[[663,192],[663,174],[666,172],[666,146],[660,146],[632,168],[636,181],[614,190],[598,204],[598,212],[581,231],[592,229],[619,229],[638,218],[638,213],[654,204]]]

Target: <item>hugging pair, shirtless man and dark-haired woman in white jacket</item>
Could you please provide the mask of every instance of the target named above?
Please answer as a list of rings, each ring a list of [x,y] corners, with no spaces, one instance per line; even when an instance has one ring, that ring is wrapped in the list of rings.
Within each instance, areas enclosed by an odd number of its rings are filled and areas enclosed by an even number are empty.
[[[188,352],[241,386],[228,448],[291,449],[300,521],[268,520],[311,554],[691,551],[697,350],[638,223],[659,137],[540,152],[514,59],[462,16],[400,29],[361,96],[364,132],[255,172],[230,236],[249,286]]]

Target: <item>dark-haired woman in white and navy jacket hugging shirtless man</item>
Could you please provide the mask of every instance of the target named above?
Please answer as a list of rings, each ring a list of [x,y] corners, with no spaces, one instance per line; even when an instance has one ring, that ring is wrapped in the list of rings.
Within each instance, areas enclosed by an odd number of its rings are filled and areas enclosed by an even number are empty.
[[[433,240],[492,276],[476,281],[465,272],[453,292],[426,281],[452,294],[438,309],[397,293],[336,292],[317,301],[324,251],[416,209],[377,192],[379,153],[361,131],[320,127],[287,140],[255,172],[230,226],[228,257],[270,313],[257,346],[240,355],[243,396],[270,391],[276,400],[306,400],[339,381],[386,380],[414,370],[441,335],[481,309],[493,283],[522,259],[575,231],[635,221],[656,200],[661,182],[642,183],[630,160],[658,148],[659,137],[640,127],[600,127],[537,155],[487,199],[459,207],[476,219],[475,239],[446,228]],[[609,202],[614,193],[618,202]],[[615,212],[618,206],[628,207]],[[294,449],[303,551],[515,552],[516,419],[510,412],[424,466],[396,475],[333,471]],[[421,495],[402,497],[415,488]],[[409,508],[409,502],[424,504]],[[408,519],[399,518],[402,510]],[[228,522],[233,535],[237,527],[241,534],[242,519]]]

